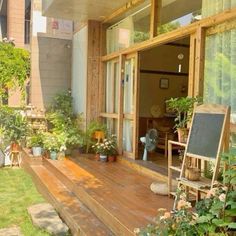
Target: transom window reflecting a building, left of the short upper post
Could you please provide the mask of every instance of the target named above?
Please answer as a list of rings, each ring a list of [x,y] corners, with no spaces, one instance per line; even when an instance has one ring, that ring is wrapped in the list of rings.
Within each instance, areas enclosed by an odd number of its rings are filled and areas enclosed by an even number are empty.
[[[112,53],[149,39],[150,0],[141,9],[107,29],[107,53]],[[139,8],[140,8],[139,7]]]

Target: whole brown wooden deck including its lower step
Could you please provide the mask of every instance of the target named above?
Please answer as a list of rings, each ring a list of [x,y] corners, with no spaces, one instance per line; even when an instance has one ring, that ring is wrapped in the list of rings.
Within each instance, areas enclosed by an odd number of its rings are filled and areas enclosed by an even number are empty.
[[[28,169],[74,235],[134,235],[134,228],[150,223],[158,208],[173,205],[172,199],[150,191],[156,179],[123,162],[79,156],[44,160]]]

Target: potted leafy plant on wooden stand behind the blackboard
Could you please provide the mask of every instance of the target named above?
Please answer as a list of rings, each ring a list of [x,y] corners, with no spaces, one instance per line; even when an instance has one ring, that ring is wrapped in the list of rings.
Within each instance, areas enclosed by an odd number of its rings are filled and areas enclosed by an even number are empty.
[[[178,132],[178,139],[181,143],[186,143],[188,138],[188,122],[192,118],[195,103],[199,103],[200,98],[179,97],[166,101],[168,108],[176,113],[175,128]]]

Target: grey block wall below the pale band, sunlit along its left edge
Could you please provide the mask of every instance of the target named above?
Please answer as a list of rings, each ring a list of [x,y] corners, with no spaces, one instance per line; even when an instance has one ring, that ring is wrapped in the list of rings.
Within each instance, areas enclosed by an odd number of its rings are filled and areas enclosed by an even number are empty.
[[[34,37],[31,42],[31,104],[45,109],[71,87],[71,41]]]

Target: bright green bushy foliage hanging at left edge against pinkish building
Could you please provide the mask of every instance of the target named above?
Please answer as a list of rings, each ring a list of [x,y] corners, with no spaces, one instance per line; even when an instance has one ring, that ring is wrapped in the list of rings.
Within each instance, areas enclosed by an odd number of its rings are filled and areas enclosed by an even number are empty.
[[[9,42],[0,42],[0,97],[6,89],[19,88],[25,94],[25,81],[30,74],[30,54]]]

